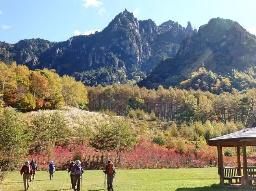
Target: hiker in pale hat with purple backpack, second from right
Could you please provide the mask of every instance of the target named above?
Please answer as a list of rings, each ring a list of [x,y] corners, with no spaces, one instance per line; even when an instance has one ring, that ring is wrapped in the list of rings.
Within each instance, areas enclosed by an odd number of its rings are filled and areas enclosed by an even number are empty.
[[[72,188],[74,191],[80,191],[80,181],[83,174],[83,168],[80,160],[76,160],[75,164],[71,167],[72,174]]]

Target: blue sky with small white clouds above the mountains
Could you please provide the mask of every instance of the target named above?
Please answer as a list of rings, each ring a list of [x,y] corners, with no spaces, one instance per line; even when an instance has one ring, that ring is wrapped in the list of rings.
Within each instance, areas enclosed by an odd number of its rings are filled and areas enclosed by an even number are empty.
[[[190,21],[199,28],[211,18],[237,21],[256,35],[256,0],[0,0],[0,41],[24,38],[67,40],[102,30],[126,8],[139,20],[157,25]]]

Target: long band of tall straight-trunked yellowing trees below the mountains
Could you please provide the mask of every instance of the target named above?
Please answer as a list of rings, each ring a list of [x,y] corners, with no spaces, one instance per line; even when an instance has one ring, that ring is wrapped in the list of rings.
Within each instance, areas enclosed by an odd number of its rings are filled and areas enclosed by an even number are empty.
[[[245,122],[255,89],[223,92],[219,95],[202,90],[185,90],[159,86],[157,90],[137,85],[109,85],[86,87],[91,111],[110,110],[117,115],[145,111],[152,118],[193,124],[201,121]]]

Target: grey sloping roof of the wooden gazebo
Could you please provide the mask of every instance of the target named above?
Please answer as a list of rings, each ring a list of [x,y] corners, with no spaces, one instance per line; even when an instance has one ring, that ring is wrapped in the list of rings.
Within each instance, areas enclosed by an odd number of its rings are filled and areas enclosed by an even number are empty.
[[[234,133],[211,138],[207,140],[207,143],[210,146],[217,146],[218,143],[221,143],[222,146],[238,146],[241,145],[241,141],[245,141],[248,146],[256,146],[256,127],[248,127]]]

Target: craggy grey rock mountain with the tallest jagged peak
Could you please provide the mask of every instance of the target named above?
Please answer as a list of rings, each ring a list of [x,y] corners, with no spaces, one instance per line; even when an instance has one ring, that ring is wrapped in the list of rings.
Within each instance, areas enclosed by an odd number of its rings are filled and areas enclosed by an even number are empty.
[[[151,19],[137,20],[125,9],[101,32],[89,36],[57,43],[39,38],[0,42],[0,61],[56,69],[59,75],[73,75],[85,85],[134,83],[162,58],[176,55],[182,39],[194,32],[190,22],[186,28],[171,20],[157,26]]]

